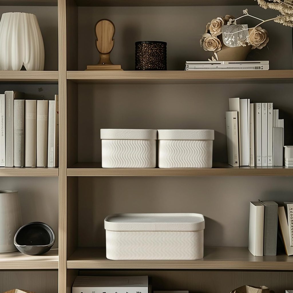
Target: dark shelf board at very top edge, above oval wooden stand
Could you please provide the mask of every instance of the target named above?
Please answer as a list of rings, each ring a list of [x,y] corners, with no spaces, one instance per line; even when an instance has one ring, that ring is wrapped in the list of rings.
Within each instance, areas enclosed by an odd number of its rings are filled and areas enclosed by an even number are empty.
[[[76,0],[79,6],[226,6],[255,5],[253,0]]]

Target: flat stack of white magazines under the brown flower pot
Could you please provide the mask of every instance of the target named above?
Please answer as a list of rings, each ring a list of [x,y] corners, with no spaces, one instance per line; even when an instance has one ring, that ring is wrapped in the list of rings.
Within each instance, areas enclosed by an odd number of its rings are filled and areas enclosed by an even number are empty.
[[[185,70],[268,70],[268,61],[186,61]]]

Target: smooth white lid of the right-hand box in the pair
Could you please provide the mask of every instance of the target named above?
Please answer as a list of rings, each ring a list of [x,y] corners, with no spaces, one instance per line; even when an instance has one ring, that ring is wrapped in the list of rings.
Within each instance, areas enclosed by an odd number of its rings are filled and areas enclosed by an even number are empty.
[[[161,140],[214,140],[214,130],[158,129]]]

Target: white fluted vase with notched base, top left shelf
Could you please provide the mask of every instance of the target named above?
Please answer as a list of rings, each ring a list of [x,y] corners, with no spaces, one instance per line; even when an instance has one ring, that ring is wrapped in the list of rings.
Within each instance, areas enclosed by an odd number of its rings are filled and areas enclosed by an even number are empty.
[[[0,70],[44,70],[45,49],[37,17],[3,13],[0,21]]]

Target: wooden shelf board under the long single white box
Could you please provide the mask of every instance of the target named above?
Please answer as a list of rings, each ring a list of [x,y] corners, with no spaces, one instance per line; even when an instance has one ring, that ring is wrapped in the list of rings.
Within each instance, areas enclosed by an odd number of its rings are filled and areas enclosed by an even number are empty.
[[[78,248],[67,260],[69,269],[293,270],[287,255],[253,256],[247,247],[204,249],[201,260],[108,260],[105,248]]]

